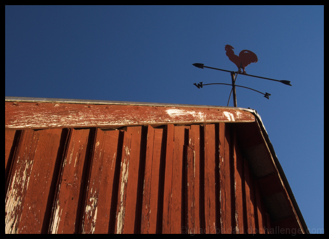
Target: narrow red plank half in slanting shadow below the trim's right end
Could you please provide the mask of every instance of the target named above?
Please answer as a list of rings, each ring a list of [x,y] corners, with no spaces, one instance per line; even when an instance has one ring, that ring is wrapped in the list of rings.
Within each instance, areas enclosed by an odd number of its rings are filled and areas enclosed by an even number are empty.
[[[235,193],[235,230],[237,234],[244,234],[244,175],[243,159],[236,142],[236,132],[233,130],[233,157],[234,157],[234,193]]]

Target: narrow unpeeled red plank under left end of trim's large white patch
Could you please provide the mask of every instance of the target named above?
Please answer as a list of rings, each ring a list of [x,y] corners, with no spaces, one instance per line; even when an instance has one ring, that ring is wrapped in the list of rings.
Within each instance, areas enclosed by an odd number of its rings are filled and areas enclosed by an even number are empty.
[[[166,170],[163,186],[162,233],[171,233],[172,175],[174,157],[174,125],[167,125]]]

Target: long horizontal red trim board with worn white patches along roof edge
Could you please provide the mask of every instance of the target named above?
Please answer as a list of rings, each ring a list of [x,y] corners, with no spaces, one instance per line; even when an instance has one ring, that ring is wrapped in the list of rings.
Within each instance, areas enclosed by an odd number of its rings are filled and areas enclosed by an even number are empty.
[[[232,108],[43,102],[5,102],[5,114],[5,127],[19,129],[255,121],[250,112]]]

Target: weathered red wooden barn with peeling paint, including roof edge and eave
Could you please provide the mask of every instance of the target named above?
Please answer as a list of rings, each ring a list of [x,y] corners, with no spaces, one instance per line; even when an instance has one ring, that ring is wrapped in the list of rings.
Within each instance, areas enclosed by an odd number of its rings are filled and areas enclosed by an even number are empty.
[[[309,233],[252,109],[5,99],[5,233]]]

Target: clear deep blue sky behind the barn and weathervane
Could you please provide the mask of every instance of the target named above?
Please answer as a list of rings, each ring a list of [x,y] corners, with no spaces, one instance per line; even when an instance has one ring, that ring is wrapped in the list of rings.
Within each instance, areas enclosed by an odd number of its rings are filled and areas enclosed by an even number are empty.
[[[6,6],[6,96],[237,106],[262,117],[311,233],[323,232],[324,6]],[[230,106],[232,106],[232,98]]]

